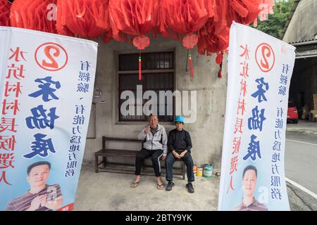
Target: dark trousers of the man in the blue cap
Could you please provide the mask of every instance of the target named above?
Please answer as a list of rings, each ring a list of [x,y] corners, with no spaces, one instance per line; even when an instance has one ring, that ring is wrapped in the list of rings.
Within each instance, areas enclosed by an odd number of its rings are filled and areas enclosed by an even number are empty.
[[[190,155],[189,153],[186,153],[180,159],[185,162],[188,181],[190,182],[194,181],[195,179],[194,172],[192,170],[192,167],[194,166],[194,162],[192,161],[192,155]],[[176,160],[178,159],[174,157],[173,153],[168,153],[166,158],[166,181],[173,181],[173,165]]]

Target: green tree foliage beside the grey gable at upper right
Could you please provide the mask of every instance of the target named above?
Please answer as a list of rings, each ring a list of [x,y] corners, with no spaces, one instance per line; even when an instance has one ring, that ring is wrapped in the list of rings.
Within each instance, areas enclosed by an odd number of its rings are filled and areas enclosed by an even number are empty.
[[[269,14],[268,20],[259,22],[256,29],[270,34],[273,37],[281,38],[282,30],[290,15],[293,4],[294,0],[275,0],[275,6],[273,8],[274,14]]]

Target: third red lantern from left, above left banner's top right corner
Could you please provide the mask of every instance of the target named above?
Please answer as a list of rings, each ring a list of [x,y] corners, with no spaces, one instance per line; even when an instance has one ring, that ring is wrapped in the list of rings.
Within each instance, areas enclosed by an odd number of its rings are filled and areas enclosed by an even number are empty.
[[[59,34],[99,37],[111,29],[108,0],[58,0]]]

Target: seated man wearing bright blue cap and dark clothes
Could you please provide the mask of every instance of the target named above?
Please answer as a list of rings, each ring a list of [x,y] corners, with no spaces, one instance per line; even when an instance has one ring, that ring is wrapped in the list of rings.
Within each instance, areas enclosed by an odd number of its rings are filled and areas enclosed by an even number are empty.
[[[194,181],[193,172],[193,161],[191,149],[192,149],[192,139],[188,131],[185,131],[184,127],[184,117],[178,116],[175,118],[175,129],[170,131],[168,134],[168,155],[166,158],[166,180],[168,185],[166,186],[166,191],[172,190],[173,183],[173,164],[176,160],[182,159],[187,167],[187,179],[186,184],[187,191],[189,193],[194,193],[194,188],[192,186],[192,181]]]

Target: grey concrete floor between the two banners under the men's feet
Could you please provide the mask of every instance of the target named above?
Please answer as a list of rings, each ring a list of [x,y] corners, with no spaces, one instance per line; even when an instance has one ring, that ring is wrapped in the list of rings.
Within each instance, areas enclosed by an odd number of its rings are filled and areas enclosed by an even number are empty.
[[[93,165],[82,165],[74,210],[90,211],[214,211],[218,205],[220,178],[195,177],[194,193],[185,188],[187,181],[174,176],[172,191],[158,190],[155,176],[142,176],[130,188],[134,174],[94,172]],[[165,179],[163,179],[165,181]]]

